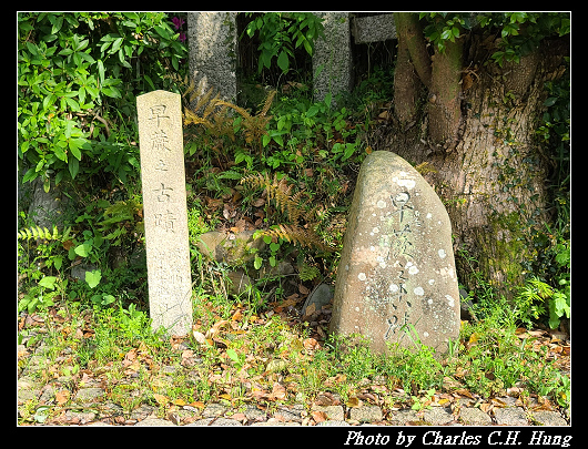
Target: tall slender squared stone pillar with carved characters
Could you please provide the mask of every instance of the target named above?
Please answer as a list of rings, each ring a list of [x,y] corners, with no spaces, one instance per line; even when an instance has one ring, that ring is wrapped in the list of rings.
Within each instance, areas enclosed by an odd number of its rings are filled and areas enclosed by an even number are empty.
[[[176,93],[136,98],[149,283],[154,330],[192,328],[182,105]]]

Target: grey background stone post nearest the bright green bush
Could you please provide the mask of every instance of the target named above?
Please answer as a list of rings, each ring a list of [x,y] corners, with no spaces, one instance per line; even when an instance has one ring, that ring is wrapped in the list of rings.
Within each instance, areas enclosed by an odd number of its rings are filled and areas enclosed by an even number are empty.
[[[189,12],[190,73],[203,92],[211,86],[223,100],[236,100],[236,12]]]

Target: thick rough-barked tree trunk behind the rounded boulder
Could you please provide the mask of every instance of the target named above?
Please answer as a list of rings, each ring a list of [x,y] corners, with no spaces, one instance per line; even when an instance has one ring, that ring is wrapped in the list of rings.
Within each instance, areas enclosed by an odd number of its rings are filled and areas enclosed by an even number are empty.
[[[455,103],[457,113],[453,112],[447,121],[447,116],[438,115],[447,111],[429,105],[420,126],[408,132],[392,130],[386,142],[375,150],[394,151],[415,165],[428,162],[436,172],[426,173],[425,177],[452,218],[459,282],[474,288],[472,271],[479,271],[498,292],[510,296],[536,257],[534,233],[549,221],[549,162],[535,131],[547,96],[544,83],[561,75],[565,69],[560,65],[561,49],[554,51],[557,44],[549,43],[521,58],[518,65],[483,65],[481,55],[487,55],[488,50],[478,45],[479,40],[473,37],[468,47],[472,67],[479,63],[479,70],[456,67],[455,53],[444,57],[452,59],[450,64],[437,65],[438,60],[433,63],[429,99],[445,95],[440,104]],[[457,52],[457,47],[454,50]],[[453,83],[459,75],[463,79],[458,92],[440,88],[444,81]],[[444,79],[436,80],[437,76]],[[459,132],[450,134],[456,127],[446,124],[455,126],[456,121]],[[435,140],[447,142],[454,135],[452,145],[435,144]]]

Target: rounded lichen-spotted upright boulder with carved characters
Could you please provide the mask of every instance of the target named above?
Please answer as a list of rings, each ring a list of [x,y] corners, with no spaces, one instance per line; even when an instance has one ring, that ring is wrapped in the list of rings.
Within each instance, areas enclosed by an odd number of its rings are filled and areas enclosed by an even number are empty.
[[[435,191],[410,164],[376,151],[357,178],[331,331],[364,335],[373,350],[385,353],[388,341],[412,347],[412,326],[437,354],[459,336],[452,224]]]

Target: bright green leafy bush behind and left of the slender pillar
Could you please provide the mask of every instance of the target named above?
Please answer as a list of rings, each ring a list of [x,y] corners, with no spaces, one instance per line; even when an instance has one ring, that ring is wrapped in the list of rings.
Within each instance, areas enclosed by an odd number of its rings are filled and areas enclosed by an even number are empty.
[[[18,14],[18,155],[45,191],[80,173],[136,174],[135,95],[175,90],[187,52],[163,12]]]

